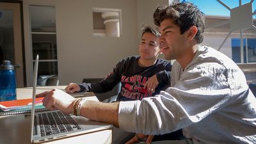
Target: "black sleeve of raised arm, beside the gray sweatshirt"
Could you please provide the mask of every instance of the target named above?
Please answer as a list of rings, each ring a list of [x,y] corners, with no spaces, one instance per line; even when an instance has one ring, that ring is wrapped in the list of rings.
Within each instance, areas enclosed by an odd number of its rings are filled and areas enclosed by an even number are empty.
[[[156,74],[157,81],[158,83],[170,84],[172,65],[169,62],[164,64],[164,70],[157,72]]]

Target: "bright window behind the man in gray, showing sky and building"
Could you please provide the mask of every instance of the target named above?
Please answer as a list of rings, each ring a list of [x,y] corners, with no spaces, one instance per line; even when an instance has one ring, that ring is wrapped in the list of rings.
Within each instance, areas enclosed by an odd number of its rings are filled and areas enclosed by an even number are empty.
[[[186,0],[205,13],[205,40],[236,63],[255,63],[256,2],[251,0]],[[253,2],[253,3],[252,3]],[[214,7],[214,8],[212,8]],[[241,39],[243,47],[241,48]],[[252,46],[251,46],[252,45]]]

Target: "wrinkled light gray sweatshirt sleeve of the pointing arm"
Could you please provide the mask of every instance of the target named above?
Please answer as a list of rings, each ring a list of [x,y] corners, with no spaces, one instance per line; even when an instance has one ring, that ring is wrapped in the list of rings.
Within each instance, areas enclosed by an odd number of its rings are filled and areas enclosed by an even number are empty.
[[[184,72],[166,92],[141,101],[120,102],[119,127],[143,134],[164,134],[195,124],[236,99],[230,93],[233,72],[216,63],[199,65]],[[228,79],[233,80],[229,83]],[[246,92],[246,86],[237,89]]]

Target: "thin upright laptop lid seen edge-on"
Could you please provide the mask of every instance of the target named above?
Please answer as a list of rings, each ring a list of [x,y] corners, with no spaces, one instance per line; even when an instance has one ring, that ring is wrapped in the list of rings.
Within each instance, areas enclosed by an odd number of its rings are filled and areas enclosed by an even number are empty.
[[[33,73],[33,93],[32,93],[32,106],[31,106],[31,136],[30,141],[33,141],[33,133],[34,133],[34,122],[35,122],[35,99],[36,99],[36,80],[37,80],[37,71],[38,71],[38,60],[39,56],[36,55],[34,73]]]

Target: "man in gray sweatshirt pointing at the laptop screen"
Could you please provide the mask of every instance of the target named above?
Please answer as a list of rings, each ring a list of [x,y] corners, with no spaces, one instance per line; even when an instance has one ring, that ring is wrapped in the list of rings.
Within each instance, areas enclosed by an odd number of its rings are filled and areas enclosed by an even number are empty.
[[[184,143],[256,143],[256,99],[234,61],[199,45],[204,39],[204,14],[191,3],[173,3],[157,8],[154,22],[160,28],[165,58],[176,60],[171,87],[141,101],[86,101],[81,115],[144,134],[182,129]],[[60,90],[40,96],[45,96],[47,108],[65,113],[72,113],[77,102]]]

